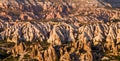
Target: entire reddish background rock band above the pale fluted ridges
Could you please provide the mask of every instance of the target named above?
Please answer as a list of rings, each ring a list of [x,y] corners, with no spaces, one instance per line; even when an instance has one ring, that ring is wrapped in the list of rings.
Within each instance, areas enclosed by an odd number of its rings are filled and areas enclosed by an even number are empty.
[[[56,0],[44,2],[39,0],[0,0],[0,19],[5,22],[26,20],[49,21],[50,19],[68,18],[69,16],[77,17],[77,20],[81,19],[80,21],[85,22],[90,20],[107,21],[120,16],[119,9],[106,10],[103,8],[107,4],[112,6],[114,2],[117,6],[120,6],[118,5],[119,1],[112,0],[112,2],[109,0]],[[96,8],[96,6],[102,7],[102,9]]]

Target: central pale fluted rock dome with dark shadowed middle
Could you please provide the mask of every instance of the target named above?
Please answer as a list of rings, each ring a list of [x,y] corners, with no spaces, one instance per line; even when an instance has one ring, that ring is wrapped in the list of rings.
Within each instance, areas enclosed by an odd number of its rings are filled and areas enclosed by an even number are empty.
[[[61,45],[62,43],[74,41],[72,29],[71,31],[70,29],[71,27],[68,25],[59,25],[59,26],[55,25],[50,33],[51,36],[48,39],[48,42],[54,45]]]

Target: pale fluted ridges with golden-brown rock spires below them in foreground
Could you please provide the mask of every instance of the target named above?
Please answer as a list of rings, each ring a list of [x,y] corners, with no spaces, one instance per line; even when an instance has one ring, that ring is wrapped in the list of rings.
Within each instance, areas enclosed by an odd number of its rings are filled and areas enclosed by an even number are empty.
[[[119,22],[76,26],[65,22],[13,22],[0,32],[14,42],[11,53],[20,60],[101,60],[106,52],[119,55]],[[3,26],[3,25],[1,25]],[[24,58],[28,55],[29,57]]]

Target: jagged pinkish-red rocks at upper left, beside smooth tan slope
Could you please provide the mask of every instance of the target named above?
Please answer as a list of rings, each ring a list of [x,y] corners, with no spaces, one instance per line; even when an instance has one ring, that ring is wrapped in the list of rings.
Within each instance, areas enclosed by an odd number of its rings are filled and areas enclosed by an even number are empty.
[[[68,3],[12,0],[0,2],[0,19],[4,21],[41,20],[62,18],[68,15],[72,5]]]

